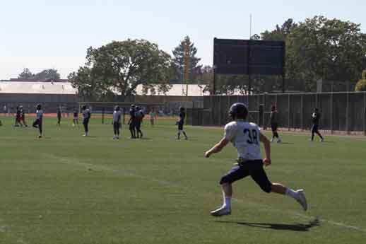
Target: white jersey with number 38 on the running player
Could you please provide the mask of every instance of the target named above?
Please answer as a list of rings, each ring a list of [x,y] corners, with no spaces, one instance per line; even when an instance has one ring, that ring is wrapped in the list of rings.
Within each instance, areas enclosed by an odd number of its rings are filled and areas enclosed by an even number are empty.
[[[225,138],[237,149],[239,158],[256,160],[261,158],[258,125],[244,120],[237,120],[225,125]]]

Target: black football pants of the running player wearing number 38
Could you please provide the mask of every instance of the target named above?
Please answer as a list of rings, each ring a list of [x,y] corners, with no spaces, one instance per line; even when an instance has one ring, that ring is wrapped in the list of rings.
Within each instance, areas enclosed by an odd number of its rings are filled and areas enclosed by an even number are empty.
[[[241,163],[240,165],[235,165],[226,175],[220,180],[220,184],[230,183],[247,176],[251,176],[256,184],[261,187],[264,192],[271,192],[272,183],[268,180],[266,172],[263,169],[263,161],[253,160]]]

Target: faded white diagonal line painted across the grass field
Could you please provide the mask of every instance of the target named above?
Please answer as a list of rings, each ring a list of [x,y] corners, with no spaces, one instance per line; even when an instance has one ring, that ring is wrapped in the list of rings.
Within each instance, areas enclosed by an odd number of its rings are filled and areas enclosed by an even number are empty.
[[[66,164],[69,164],[69,165],[81,165],[81,166],[86,166],[86,167],[93,167],[93,168],[100,169],[100,170],[111,171],[113,173],[122,173],[124,175],[128,175],[128,176],[135,177],[135,178],[141,178],[143,180],[150,180],[150,181],[153,181],[153,182],[158,182],[159,184],[162,184],[162,185],[168,185],[168,186],[172,186],[172,187],[176,187],[176,188],[181,188],[181,189],[184,189],[184,190],[190,190],[189,187],[185,187],[184,185],[179,185],[179,184],[175,184],[173,182],[169,182],[169,181],[166,181],[166,180],[159,180],[157,178],[152,178],[152,177],[148,177],[148,176],[144,176],[144,175],[138,175],[136,173],[132,173],[131,170],[118,170],[118,169],[115,169],[115,168],[110,168],[110,167],[105,166],[105,165],[95,165],[93,163],[83,163],[83,162],[79,161],[76,158],[59,157],[59,156],[56,156],[56,155],[51,154],[51,153],[43,153],[43,155],[45,155],[49,158],[52,158],[52,159],[56,159],[56,160],[60,161],[61,163],[66,163]],[[249,201],[248,200],[244,201],[243,199],[238,199],[236,197],[232,197],[232,199],[237,201],[237,202],[255,204],[256,206],[261,205],[263,208],[259,208],[259,211],[266,211],[266,209],[267,210],[271,209],[271,211],[276,211],[276,212],[283,213],[283,210],[275,209],[273,207],[270,207],[269,205],[259,204],[258,202],[252,202],[250,200]],[[348,229],[351,229],[351,230],[354,230],[354,231],[360,231],[362,233],[366,233],[366,229],[360,228],[358,226],[350,226],[346,223],[341,223],[341,222],[333,221],[333,220],[329,220],[329,219],[319,219],[318,216],[308,216],[308,215],[305,215],[305,214],[300,214],[297,211],[287,210],[285,212],[287,212],[289,214],[292,214],[293,216],[301,217],[302,219],[307,219],[307,220],[318,219],[319,221],[324,221],[324,222],[330,223],[334,226],[339,226],[339,227],[342,227],[342,228],[348,228]]]

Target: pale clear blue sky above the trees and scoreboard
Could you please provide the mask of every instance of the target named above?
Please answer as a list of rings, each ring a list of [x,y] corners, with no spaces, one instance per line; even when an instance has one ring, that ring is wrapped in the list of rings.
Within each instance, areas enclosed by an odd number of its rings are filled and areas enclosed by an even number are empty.
[[[61,78],[85,63],[86,49],[112,40],[143,38],[171,54],[189,35],[201,64],[212,64],[213,37],[248,38],[293,18],[316,15],[360,23],[366,33],[366,1],[115,1],[1,0],[0,79],[58,69]]]

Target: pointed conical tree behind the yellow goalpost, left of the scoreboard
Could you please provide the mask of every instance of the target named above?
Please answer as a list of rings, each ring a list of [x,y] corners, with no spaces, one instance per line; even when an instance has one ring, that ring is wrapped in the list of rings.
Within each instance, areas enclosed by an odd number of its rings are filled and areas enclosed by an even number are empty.
[[[175,80],[180,82],[184,82],[184,52],[187,47],[189,52],[189,81],[195,81],[197,79],[202,67],[199,65],[201,59],[196,57],[197,49],[194,47],[194,43],[191,42],[188,36],[184,37],[179,45],[172,51],[174,56],[173,62],[175,64]]]

